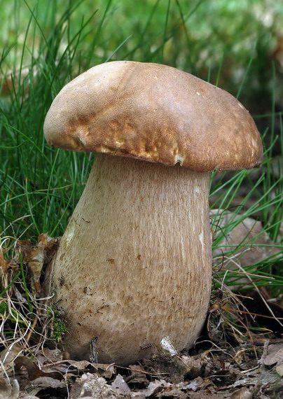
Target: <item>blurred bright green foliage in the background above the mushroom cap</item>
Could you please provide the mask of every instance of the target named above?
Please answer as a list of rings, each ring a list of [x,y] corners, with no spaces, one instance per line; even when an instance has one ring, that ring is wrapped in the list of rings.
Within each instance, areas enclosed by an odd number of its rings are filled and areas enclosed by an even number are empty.
[[[64,51],[69,38],[81,29],[83,40],[78,43],[77,66],[90,66],[112,59],[134,59],[143,62],[163,62],[217,82],[237,94],[247,66],[247,94],[261,91],[272,80],[271,62],[277,70],[283,68],[283,3],[274,0],[69,0],[70,24],[65,31]],[[54,34],[54,22],[59,22],[66,10],[64,0],[0,0],[0,47],[14,45],[2,69],[16,67],[22,45],[39,49],[42,36]],[[33,10],[37,27],[26,29]],[[103,29],[101,22],[103,21]],[[121,45],[123,43],[123,45]],[[280,44],[281,43],[281,44]],[[283,45],[282,45],[283,46]],[[92,55],[84,57],[92,48]],[[24,65],[29,63],[25,54]],[[219,73],[221,68],[221,73]],[[74,71],[76,74],[78,71]],[[279,93],[277,94],[279,98]]]

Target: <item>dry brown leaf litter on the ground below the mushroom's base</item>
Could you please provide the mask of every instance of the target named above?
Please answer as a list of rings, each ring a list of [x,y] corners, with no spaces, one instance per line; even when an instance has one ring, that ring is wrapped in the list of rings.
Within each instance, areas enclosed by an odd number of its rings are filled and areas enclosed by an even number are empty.
[[[14,360],[11,383],[0,379],[0,399],[280,398],[283,382],[277,366],[283,363],[283,341],[273,341],[225,349],[207,342],[209,349],[194,355],[164,351],[160,344],[158,354],[129,367],[57,360],[62,353],[45,348],[33,359]],[[237,356],[243,349],[243,356]]]

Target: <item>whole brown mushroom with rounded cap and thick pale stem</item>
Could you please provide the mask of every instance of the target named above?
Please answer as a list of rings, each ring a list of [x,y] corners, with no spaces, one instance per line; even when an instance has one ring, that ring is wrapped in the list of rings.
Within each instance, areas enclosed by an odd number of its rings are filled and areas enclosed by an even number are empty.
[[[99,362],[127,365],[163,337],[193,344],[211,286],[209,172],[261,163],[247,110],[170,66],[109,62],[63,87],[44,134],[98,153],[50,270],[71,356],[96,342]]]

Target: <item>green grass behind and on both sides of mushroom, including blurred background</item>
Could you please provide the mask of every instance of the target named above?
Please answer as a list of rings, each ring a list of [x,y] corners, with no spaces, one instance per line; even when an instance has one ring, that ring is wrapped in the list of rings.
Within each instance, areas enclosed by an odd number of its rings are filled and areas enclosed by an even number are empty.
[[[223,228],[217,218],[212,220],[214,249],[220,248],[228,259],[250,248],[252,243],[247,241],[227,251],[223,237],[246,218],[261,221],[278,253],[248,265],[244,273],[256,288],[268,285],[271,296],[279,295],[283,280],[279,269],[282,179],[278,155],[283,127],[277,109],[280,76],[276,60],[270,62],[282,13],[279,2],[270,6],[270,25],[261,14],[267,0],[195,0],[189,6],[181,0],[1,3],[6,13],[0,27],[2,268],[18,239],[35,243],[41,233],[62,235],[88,179],[93,154],[56,150],[43,139],[43,121],[55,95],[92,65],[134,59],[195,73],[232,92],[254,113],[265,144],[263,166],[256,173],[212,174],[211,207],[233,212]],[[223,290],[224,277],[230,288],[242,277],[243,271],[223,270],[222,263],[216,260],[214,266],[213,295]],[[25,305],[9,302],[17,287]],[[6,330],[2,325],[3,343],[13,331],[11,323],[19,328],[18,337],[26,334],[22,323],[32,329],[38,300],[29,292],[29,273],[22,261],[2,275],[1,290],[2,319],[9,323]],[[20,311],[21,307],[25,309]]]

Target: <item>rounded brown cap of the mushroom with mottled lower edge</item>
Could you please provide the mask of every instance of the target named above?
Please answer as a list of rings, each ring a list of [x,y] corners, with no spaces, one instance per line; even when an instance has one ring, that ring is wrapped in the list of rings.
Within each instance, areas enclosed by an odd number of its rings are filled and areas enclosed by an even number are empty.
[[[162,64],[116,61],[71,80],[44,123],[48,144],[197,172],[251,169],[263,146],[231,94]]]

